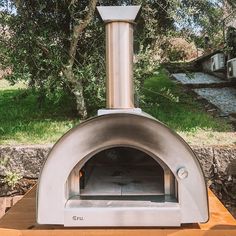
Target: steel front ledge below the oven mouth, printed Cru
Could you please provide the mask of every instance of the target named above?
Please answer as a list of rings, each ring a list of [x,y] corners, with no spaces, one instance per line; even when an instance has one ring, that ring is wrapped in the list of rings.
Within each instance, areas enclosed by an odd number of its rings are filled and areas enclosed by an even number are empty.
[[[180,207],[175,202],[69,200],[64,210],[64,226],[70,227],[180,225]]]

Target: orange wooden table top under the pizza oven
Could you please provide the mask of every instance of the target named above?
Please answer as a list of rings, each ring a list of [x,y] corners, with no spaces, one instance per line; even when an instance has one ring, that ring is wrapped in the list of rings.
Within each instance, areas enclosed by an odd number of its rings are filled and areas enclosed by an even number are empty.
[[[180,228],[64,228],[35,222],[36,187],[0,219],[0,236],[236,236],[236,220],[209,190],[210,220]]]

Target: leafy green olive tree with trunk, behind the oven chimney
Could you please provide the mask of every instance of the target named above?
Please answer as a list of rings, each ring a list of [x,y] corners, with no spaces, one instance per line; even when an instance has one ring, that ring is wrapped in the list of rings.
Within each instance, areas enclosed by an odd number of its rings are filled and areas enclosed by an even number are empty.
[[[105,35],[96,6],[130,4],[142,4],[134,42],[137,90],[158,64],[156,43],[183,28],[184,19],[204,25],[203,15],[214,9],[210,0],[0,0],[0,66],[11,71],[7,79],[27,81],[40,103],[69,93],[85,118],[104,105]]]

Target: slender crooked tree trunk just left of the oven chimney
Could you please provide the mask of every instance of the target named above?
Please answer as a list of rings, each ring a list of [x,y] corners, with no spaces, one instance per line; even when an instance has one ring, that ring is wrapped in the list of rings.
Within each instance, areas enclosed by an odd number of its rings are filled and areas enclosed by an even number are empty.
[[[74,94],[75,99],[76,99],[76,107],[77,107],[78,115],[82,119],[85,119],[87,117],[87,108],[86,108],[85,99],[84,99],[84,89],[83,89],[82,81],[78,80],[78,78],[76,78],[73,72],[73,66],[75,63],[75,56],[76,56],[76,50],[77,50],[79,37],[81,33],[83,32],[83,30],[87,27],[87,25],[93,19],[93,14],[96,9],[96,4],[97,4],[97,0],[90,0],[87,15],[85,16],[85,18],[80,24],[74,25],[72,29],[72,37],[71,37],[70,48],[68,52],[68,62],[67,62],[67,65],[64,66],[63,68],[64,76],[69,81],[71,85],[71,91]]]

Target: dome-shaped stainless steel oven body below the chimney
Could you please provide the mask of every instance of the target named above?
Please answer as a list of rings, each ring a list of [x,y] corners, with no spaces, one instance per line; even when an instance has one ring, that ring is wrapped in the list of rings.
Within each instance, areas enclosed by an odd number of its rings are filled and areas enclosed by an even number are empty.
[[[119,164],[120,159],[112,156],[114,148],[127,161],[123,158],[123,164]],[[96,162],[90,161],[99,153],[103,155],[101,161],[98,158]],[[138,157],[129,160],[130,153]],[[106,158],[110,159],[105,166]],[[93,165],[97,166],[96,171],[89,172]],[[86,173],[83,173],[85,166]],[[126,171],[123,180],[128,176],[127,179],[137,178],[136,182],[116,182],[117,176],[109,175],[116,167],[126,168],[130,173]],[[86,192],[81,190],[84,188],[81,182],[87,172],[94,175],[88,176],[90,185]],[[163,187],[158,178],[164,182]],[[115,194],[109,195],[109,186],[117,187]],[[103,188],[108,192],[102,194]],[[89,191],[92,196],[84,197],[83,193]],[[54,145],[39,178],[37,221],[40,224],[177,226],[207,220],[207,189],[196,156],[180,136],[145,113],[106,114],[81,123]]]

